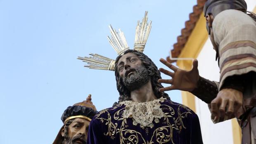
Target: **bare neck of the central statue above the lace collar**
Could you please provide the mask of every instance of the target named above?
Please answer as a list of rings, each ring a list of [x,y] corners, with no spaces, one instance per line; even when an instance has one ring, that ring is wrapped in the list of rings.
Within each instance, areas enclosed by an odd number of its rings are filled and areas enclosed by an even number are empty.
[[[146,85],[140,87],[137,90],[130,92],[130,97],[133,102],[139,102],[139,103],[149,102],[154,99],[157,99],[152,89],[151,80],[149,80],[149,82]]]

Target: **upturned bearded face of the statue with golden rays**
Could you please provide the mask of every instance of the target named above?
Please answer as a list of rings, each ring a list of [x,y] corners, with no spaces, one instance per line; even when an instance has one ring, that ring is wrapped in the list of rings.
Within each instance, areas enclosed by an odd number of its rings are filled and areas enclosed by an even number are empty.
[[[117,68],[123,84],[130,91],[136,90],[149,81],[147,68],[136,54],[124,54],[118,61]]]

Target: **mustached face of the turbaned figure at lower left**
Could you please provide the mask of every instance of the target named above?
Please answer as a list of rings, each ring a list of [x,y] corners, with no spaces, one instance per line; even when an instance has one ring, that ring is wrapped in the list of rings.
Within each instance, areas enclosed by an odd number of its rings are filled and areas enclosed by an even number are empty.
[[[62,144],[86,144],[88,128],[90,121],[84,118],[76,118],[68,127],[68,135],[62,131],[62,137],[65,137]]]

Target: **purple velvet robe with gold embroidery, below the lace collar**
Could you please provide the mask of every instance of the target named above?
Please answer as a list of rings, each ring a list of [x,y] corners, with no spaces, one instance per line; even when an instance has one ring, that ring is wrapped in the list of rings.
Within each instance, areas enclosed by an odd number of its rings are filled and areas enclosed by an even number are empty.
[[[203,144],[197,115],[188,107],[165,99],[159,102],[164,117],[153,127],[123,118],[124,104],[104,109],[92,119],[88,144]]]

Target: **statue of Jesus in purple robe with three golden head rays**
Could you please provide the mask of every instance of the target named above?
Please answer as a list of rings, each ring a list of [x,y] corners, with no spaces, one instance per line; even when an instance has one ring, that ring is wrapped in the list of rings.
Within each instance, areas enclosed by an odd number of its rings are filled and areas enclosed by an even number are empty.
[[[134,50],[125,47],[123,33],[116,33],[110,26],[110,43],[119,47],[114,47],[119,50],[116,60],[107,62],[108,58],[98,54],[79,57],[88,62],[88,67],[96,69],[104,67],[100,65],[103,62],[97,63],[99,58],[105,59],[107,68],[115,71],[120,94],[117,105],[100,111],[91,120],[88,144],[203,144],[197,115],[159,91],[163,88],[158,82],[160,71],[142,53],[151,28],[151,22],[147,24],[147,12],[142,24],[138,22],[137,26]],[[144,43],[138,42],[142,39],[146,39]]]

